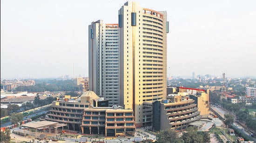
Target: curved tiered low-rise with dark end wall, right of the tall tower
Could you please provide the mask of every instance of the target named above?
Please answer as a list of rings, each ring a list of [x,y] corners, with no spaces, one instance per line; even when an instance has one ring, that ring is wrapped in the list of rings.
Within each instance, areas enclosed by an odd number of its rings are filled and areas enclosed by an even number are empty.
[[[156,131],[185,130],[189,123],[200,120],[202,117],[194,102],[195,100],[181,95],[172,95],[166,100],[155,101],[153,103],[153,128]]]

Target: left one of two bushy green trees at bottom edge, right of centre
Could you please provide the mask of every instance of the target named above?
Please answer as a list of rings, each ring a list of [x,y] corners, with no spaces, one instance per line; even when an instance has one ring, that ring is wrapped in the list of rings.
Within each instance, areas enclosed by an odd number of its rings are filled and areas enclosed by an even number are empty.
[[[174,130],[160,131],[160,133],[156,135],[156,140],[157,143],[182,143],[182,139],[178,137]]]

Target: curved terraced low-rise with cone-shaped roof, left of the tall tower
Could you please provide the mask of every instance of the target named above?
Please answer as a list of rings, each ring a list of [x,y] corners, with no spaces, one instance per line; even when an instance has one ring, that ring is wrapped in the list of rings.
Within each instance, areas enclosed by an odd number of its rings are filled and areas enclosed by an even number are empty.
[[[132,109],[121,106],[108,107],[108,99],[88,91],[80,98],[66,96],[53,101],[47,114],[49,121],[67,124],[68,130],[105,136],[134,135],[135,119]]]

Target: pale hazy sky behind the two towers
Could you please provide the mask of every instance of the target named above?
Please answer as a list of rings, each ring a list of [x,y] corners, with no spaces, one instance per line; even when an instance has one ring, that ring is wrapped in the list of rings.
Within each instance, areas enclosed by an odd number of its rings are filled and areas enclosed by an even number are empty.
[[[1,78],[88,76],[88,25],[126,1],[0,0]],[[135,1],[167,11],[168,76],[256,76],[256,0]]]

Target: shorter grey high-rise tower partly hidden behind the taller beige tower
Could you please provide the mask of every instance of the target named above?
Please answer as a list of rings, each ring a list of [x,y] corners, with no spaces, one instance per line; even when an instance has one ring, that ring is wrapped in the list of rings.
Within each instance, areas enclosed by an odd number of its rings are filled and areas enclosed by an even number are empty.
[[[120,105],[118,24],[98,20],[88,31],[89,90]]]

